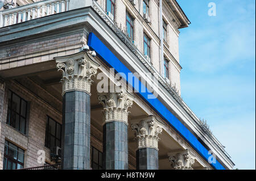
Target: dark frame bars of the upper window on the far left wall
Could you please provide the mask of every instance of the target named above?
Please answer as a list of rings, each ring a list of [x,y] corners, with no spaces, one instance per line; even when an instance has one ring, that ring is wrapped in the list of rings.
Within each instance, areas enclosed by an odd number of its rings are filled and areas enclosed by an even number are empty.
[[[26,135],[27,132],[27,111],[28,111],[28,102],[26,100],[24,100],[22,97],[20,97],[18,94],[15,94],[15,92],[9,90],[8,94],[11,94],[11,105],[7,106],[7,117],[6,117],[6,124],[10,125],[11,127],[13,127],[13,125],[11,125],[11,120],[12,120],[12,113],[15,113],[16,115],[19,116],[19,128],[16,129],[17,131],[19,131],[20,133],[23,133],[20,131],[20,117],[22,117],[25,120],[25,124],[24,124],[24,133]],[[15,94],[15,96],[17,96],[20,99],[20,103],[19,103],[19,112],[16,112],[15,110],[13,110],[13,95]],[[22,115],[21,110],[22,110],[22,101],[24,101],[26,103],[26,113],[25,116]],[[9,96],[8,96],[8,102],[9,102]],[[10,111],[9,111],[10,110]],[[13,122],[13,120],[12,120]]]

